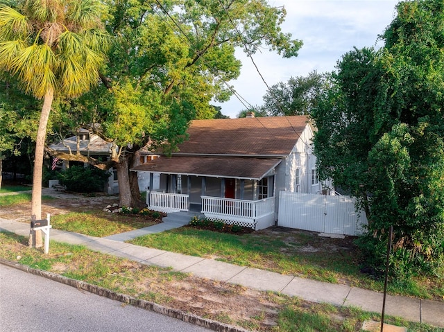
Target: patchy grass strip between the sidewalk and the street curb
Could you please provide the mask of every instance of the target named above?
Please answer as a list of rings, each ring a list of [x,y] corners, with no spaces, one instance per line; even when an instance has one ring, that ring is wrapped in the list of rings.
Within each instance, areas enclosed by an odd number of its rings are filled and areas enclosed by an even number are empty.
[[[45,255],[42,250],[29,248],[27,241],[23,236],[0,232],[0,257],[138,299],[146,299],[196,315],[205,315],[210,319],[241,326],[250,331],[359,332],[364,320],[380,320],[379,314],[366,313],[357,308],[338,308],[329,304],[306,302],[275,292],[259,291],[255,292],[252,302],[259,311],[240,315],[239,310],[233,311],[231,306],[224,304],[244,304],[246,299],[251,297],[251,290],[100,254],[80,245],[51,241],[49,254]],[[200,293],[200,288],[205,290]],[[198,306],[192,306],[188,301],[180,299],[189,294],[198,297],[198,301],[204,301],[207,297],[216,299],[212,302],[212,313],[208,311],[210,305],[200,310]],[[241,312],[247,310],[248,307],[245,306]],[[270,320],[275,325],[268,324]],[[444,331],[389,316],[386,316],[385,322],[405,326],[410,332]]]

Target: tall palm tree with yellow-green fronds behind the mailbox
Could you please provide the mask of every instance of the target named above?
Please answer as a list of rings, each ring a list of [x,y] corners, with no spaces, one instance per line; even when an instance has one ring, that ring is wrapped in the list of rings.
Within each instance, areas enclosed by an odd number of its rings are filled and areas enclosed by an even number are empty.
[[[3,2],[4,3],[4,2]],[[31,220],[42,218],[42,170],[46,125],[54,95],[74,97],[99,82],[108,36],[95,0],[19,0],[0,5],[0,70],[17,76],[22,89],[43,98],[33,171]],[[40,247],[42,234],[31,234]]]

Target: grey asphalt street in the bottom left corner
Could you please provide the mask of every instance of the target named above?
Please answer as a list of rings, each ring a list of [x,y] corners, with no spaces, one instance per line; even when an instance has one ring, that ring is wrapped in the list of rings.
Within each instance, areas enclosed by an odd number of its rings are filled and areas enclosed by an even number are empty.
[[[0,264],[0,331],[210,331]]]

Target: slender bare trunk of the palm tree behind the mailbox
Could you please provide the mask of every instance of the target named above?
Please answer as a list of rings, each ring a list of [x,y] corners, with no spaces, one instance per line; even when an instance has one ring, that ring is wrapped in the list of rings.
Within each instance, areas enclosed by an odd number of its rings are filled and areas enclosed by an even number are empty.
[[[48,124],[49,113],[53,103],[54,91],[46,91],[43,100],[42,114],[40,114],[39,129],[37,139],[35,140],[35,157],[33,171],[33,190],[31,199],[31,220],[40,220],[42,218],[42,175],[43,175],[43,157],[44,141],[46,139],[46,125]],[[30,247],[42,247],[42,231],[31,231],[29,236]]]

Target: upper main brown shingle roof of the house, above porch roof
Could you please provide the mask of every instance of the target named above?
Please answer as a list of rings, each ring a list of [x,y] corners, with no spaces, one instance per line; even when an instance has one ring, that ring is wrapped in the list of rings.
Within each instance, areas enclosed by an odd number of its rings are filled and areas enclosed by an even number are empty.
[[[308,116],[192,121],[176,154],[289,155]]]

